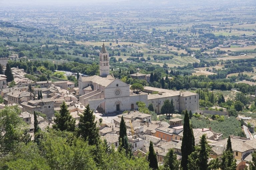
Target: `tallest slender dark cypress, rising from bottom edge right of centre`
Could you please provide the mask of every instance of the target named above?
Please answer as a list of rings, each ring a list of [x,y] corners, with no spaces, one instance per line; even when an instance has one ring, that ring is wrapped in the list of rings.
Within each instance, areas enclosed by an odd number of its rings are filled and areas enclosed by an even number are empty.
[[[183,124],[183,138],[181,144],[181,167],[187,170],[188,155],[194,152],[195,138],[192,127],[189,123],[188,111],[185,111],[184,124]]]

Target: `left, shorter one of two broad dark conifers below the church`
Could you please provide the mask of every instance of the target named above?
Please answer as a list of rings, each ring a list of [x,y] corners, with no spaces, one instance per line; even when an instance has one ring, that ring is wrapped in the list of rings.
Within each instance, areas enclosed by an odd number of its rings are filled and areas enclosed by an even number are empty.
[[[70,132],[75,130],[75,119],[70,115],[65,102],[60,105],[60,112],[56,113],[55,116],[56,119],[54,119],[54,122],[56,124],[53,125],[54,129]]]

